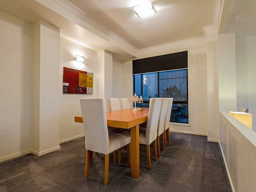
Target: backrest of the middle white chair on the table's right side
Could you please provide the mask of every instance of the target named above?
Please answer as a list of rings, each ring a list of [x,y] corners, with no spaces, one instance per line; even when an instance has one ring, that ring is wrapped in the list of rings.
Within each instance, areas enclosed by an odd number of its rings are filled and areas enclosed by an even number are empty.
[[[164,132],[165,117],[166,117],[168,105],[169,105],[169,99],[162,98],[162,103],[161,103],[161,108],[160,108],[160,116],[159,116],[159,120],[158,120],[157,136],[160,136]]]

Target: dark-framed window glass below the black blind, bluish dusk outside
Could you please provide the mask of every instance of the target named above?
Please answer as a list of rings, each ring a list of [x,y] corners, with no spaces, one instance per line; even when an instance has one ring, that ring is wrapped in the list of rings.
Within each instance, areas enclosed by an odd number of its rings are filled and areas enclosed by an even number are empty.
[[[173,98],[170,122],[188,124],[188,69],[134,74],[134,93],[143,97],[148,107],[153,97]]]

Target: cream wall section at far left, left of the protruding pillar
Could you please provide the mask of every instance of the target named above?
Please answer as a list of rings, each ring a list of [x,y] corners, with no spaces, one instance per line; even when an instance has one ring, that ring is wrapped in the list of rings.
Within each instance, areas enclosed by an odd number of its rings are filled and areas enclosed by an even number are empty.
[[[30,150],[32,114],[32,25],[2,11],[0,58],[1,161]]]

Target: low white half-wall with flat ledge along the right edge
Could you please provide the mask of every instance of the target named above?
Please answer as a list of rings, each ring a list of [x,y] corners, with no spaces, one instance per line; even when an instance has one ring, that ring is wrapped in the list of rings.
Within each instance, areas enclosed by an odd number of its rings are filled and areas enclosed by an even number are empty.
[[[220,112],[220,147],[233,192],[256,189],[256,133],[230,116]]]

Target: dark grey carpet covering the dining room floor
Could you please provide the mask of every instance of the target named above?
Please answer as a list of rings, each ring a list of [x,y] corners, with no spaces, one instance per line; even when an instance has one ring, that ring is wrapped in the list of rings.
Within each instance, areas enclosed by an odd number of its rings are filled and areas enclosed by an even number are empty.
[[[0,192],[231,192],[218,143],[206,136],[171,134],[172,143],[147,168],[140,146],[140,178],[130,177],[125,148],[121,164],[110,155],[109,184],[103,185],[104,155],[94,155],[84,178],[84,138],[61,144],[41,157],[28,154],[0,164]]]

